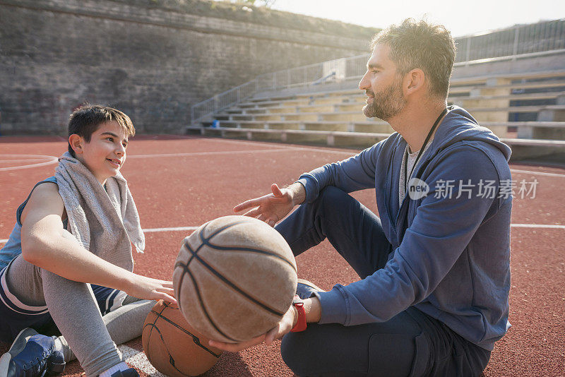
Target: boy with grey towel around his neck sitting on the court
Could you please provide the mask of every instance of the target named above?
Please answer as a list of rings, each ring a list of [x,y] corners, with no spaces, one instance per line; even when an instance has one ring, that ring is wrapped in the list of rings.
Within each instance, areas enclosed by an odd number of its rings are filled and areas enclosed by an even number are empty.
[[[172,282],[131,272],[145,238],[119,170],[134,133],[117,109],[77,109],[55,176],[18,208],[0,250],[0,340],[15,339],[0,377],[61,373],[75,355],[89,377],[138,376],[115,343],[141,335],[148,300],[176,300]]]

